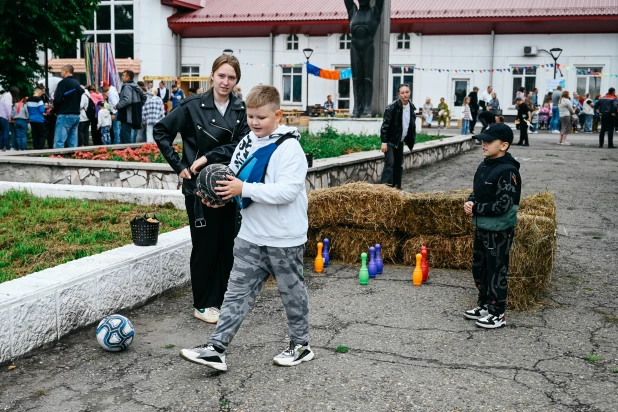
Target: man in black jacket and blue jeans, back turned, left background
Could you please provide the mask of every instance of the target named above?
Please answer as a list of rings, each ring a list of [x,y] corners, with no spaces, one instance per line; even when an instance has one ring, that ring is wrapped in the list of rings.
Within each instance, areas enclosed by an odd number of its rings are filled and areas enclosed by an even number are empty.
[[[53,108],[58,113],[54,132],[54,149],[77,147],[77,129],[79,128],[79,104],[84,89],[73,77],[73,66],[66,64],[60,69],[62,80],[54,92]]]

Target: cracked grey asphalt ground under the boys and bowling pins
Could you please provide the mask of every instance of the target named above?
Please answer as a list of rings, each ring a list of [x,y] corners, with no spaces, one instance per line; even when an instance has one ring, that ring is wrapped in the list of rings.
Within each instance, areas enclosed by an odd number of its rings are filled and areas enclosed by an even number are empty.
[[[369,286],[358,268],[306,261],[315,360],[272,364],[287,344],[276,287],[267,285],[228,353],[229,372],[178,351],[213,330],[192,316],[188,289],[125,314],[136,339],[124,353],[98,347],[95,325],[0,371],[0,410],[13,411],[616,411],[618,410],[618,150],[595,135],[531,135],[511,151],[525,195],[558,204],[558,252],[544,299],[481,330],[461,315],[475,303],[471,275],[387,266]],[[405,176],[406,190],[470,187],[479,148]],[[173,345],[173,347],[172,347]],[[338,345],[349,347],[337,353]]]

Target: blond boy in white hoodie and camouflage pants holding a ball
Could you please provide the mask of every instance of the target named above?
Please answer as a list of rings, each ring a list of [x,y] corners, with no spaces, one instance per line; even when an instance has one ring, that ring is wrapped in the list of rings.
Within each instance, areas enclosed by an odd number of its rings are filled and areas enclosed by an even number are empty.
[[[273,363],[294,366],[315,356],[309,347],[309,299],[302,274],[308,227],[307,160],[296,128],[279,126],[282,111],[276,88],[254,87],[245,104],[251,133],[240,141],[230,163],[241,178],[228,176],[229,180],[218,181],[220,186],[215,189],[223,199],[236,197],[243,208],[234,243],[234,266],[215,332],[206,345],[180,352],[183,359],[220,371],[227,371],[228,344],[270,274],[277,281],[290,334],[288,349],[275,356]],[[251,183],[242,166],[251,163],[245,162],[250,156],[258,156],[258,149],[268,148],[275,150],[265,174],[258,171],[263,178]]]

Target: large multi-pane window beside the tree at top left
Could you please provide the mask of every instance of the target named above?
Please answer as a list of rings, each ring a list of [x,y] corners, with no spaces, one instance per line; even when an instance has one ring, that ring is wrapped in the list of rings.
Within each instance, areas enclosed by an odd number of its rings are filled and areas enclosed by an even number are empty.
[[[115,58],[133,58],[133,3],[132,0],[101,1],[91,22],[85,27],[85,39],[79,42],[77,57],[85,56],[84,43],[111,43]]]

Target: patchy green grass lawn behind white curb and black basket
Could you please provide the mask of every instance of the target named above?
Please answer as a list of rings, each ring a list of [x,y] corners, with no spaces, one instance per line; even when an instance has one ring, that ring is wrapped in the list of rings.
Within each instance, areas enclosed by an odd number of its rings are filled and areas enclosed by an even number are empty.
[[[25,191],[0,195],[0,282],[133,242],[129,222],[156,213],[165,233],[186,226],[171,203],[38,198]]]

